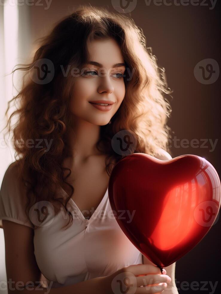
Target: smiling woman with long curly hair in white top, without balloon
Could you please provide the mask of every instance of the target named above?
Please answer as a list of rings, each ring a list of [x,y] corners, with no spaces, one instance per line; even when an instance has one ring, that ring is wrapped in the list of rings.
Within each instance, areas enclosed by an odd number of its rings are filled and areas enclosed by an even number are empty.
[[[39,280],[52,294],[119,293],[119,287],[156,293],[167,284],[168,293],[177,293],[175,264],[167,267],[171,278],[161,274],[109,214],[109,176],[128,154],[115,149],[116,133],[121,140],[127,130],[133,134],[129,153],[171,158],[164,98],[170,89],[145,43],[132,19],[82,6],[20,68],[24,84],[13,98],[20,108],[9,118],[19,115],[13,129],[19,159],[4,175],[0,218],[7,278],[22,281],[23,293],[30,293],[27,281],[37,291]]]

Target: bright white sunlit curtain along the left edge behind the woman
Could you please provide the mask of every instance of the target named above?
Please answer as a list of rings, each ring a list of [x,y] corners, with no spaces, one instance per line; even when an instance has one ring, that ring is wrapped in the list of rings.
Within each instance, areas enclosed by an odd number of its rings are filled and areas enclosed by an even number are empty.
[[[21,86],[22,71],[17,71],[13,76],[13,83],[16,89],[13,89],[12,70],[16,64],[29,62],[31,55],[30,44],[30,6],[17,5],[17,0],[5,0],[4,5],[1,0],[0,5],[0,186],[4,173],[13,161],[15,161],[15,151],[10,141],[12,134],[5,136],[7,145],[4,142],[4,133],[6,122],[10,114],[16,109],[13,103],[10,104],[7,117],[7,102],[17,95]],[[15,122],[14,118],[11,125]],[[0,220],[0,227],[2,221]],[[7,282],[5,269],[5,247],[4,233],[0,228],[0,293],[6,294],[2,281]],[[5,284],[7,285],[7,283]]]

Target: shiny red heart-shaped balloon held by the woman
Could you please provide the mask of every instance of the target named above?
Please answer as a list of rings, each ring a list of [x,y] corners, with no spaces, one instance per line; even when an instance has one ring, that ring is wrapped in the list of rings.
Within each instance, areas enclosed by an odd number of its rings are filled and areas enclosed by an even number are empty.
[[[127,155],[112,170],[108,194],[125,235],[161,268],[202,240],[221,203],[216,170],[196,155],[166,161],[144,153]]]

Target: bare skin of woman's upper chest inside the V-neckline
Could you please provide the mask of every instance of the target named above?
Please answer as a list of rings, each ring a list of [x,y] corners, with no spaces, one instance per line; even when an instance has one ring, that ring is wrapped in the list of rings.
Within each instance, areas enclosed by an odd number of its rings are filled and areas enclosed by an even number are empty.
[[[73,168],[66,181],[74,187],[71,199],[84,217],[91,217],[103,199],[109,183],[104,158],[92,159]],[[64,187],[63,189],[65,190]]]

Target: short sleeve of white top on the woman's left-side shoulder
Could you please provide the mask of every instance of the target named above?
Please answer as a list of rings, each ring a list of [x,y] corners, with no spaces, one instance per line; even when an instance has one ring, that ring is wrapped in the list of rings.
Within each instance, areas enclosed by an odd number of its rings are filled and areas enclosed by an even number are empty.
[[[25,214],[27,205],[26,191],[22,190],[21,181],[14,162],[7,168],[0,190],[0,225],[2,220],[11,220],[34,228],[34,225]]]

